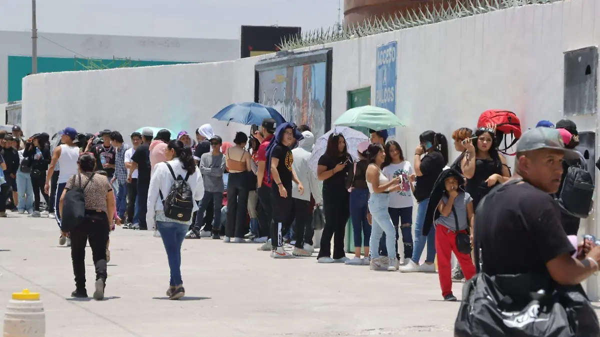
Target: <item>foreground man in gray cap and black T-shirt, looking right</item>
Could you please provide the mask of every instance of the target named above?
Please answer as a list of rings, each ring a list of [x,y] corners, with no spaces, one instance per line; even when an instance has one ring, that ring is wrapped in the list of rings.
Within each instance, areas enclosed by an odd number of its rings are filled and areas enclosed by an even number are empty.
[[[548,272],[562,285],[579,284],[598,271],[600,246],[571,257],[576,249],[550,195],[559,189],[563,158],[577,157],[556,129],[535,128],[521,136],[515,160],[518,179],[491,191],[477,209],[474,233],[481,258],[476,267],[481,261],[481,270],[490,276]]]

